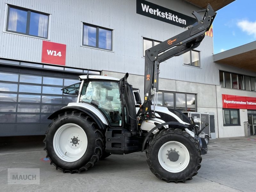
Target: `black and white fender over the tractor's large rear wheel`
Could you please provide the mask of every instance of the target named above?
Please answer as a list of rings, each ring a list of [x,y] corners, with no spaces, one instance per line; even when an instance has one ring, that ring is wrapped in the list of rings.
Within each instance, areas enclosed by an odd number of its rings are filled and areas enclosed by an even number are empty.
[[[80,111],[82,113],[86,113],[93,118],[93,120],[99,125],[100,129],[106,129],[108,127],[108,122],[101,114],[101,112],[94,106],[85,103],[69,103],[67,107],[61,108],[52,113],[52,115],[50,115],[48,119],[52,120],[59,114],[65,113],[67,111]]]

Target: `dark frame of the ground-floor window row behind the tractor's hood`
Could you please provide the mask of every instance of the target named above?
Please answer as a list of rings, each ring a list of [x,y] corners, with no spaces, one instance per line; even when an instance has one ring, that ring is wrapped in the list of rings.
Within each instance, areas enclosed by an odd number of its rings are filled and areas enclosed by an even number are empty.
[[[187,95],[195,95],[195,111],[191,111],[191,112],[197,112],[197,94],[196,93],[168,92],[168,91],[159,91],[159,92],[162,93],[162,105],[157,105],[157,106],[172,108],[171,106],[165,106],[164,105],[164,93],[172,93],[173,94],[173,108],[174,109],[177,109],[177,106],[176,106],[176,94],[185,94],[185,111],[188,111],[188,103],[187,103],[188,102],[188,100],[187,100],[188,98],[187,98]],[[159,92],[157,92],[157,93],[159,93]],[[157,97],[156,98],[156,103],[157,103],[158,94],[157,94],[156,97]],[[154,102],[154,100],[152,100],[152,102]]]

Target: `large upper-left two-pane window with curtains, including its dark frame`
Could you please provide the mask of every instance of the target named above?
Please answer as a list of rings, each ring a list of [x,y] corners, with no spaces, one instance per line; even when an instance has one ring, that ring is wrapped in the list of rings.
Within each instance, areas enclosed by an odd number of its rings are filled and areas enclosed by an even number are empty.
[[[48,14],[9,6],[6,31],[47,38],[48,22]]]

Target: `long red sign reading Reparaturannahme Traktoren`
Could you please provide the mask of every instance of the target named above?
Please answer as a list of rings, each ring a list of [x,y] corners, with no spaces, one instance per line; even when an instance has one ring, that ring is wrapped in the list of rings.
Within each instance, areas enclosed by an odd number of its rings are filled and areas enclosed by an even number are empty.
[[[222,94],[222,107],[232,109],[256,110],[256,98]]]

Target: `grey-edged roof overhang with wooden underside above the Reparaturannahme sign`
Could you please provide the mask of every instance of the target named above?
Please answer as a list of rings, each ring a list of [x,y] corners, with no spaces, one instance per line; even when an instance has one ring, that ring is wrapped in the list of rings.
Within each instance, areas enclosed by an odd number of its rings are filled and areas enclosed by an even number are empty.
[[[256,41],[213,55],[217,63],[256,72]]]

